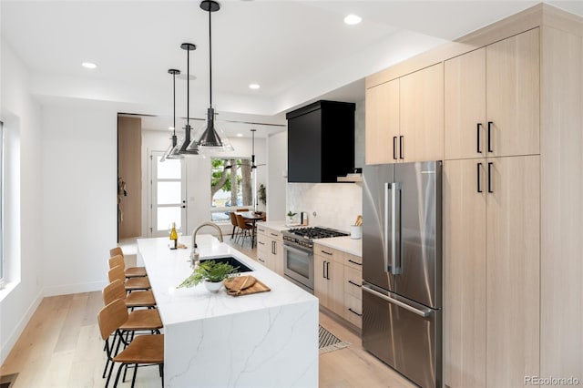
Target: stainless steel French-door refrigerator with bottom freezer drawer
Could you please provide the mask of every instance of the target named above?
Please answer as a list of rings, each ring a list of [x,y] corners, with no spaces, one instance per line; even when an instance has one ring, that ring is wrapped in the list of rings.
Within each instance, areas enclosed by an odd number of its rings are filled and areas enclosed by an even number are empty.
[[[363,168],[363,348],[442,381],[442,162]]]

